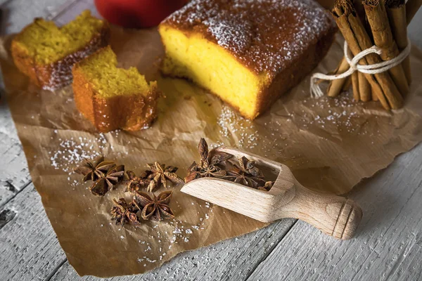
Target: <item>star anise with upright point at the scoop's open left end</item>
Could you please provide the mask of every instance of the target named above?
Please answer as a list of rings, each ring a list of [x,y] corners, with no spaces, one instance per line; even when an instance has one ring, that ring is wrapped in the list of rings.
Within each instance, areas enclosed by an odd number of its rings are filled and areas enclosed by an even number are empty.
[[[222,178],[226,176],[226,171],[219,165],[225,164],[227,159],[233,157],[226,152],[208,151],[208,145],[204,138],[201,138],[198,144],[198,152],[200,155],[199,164],[195,161],[188,168],[188,176],[185,183],[193,181],[196,178],[215,177]]]

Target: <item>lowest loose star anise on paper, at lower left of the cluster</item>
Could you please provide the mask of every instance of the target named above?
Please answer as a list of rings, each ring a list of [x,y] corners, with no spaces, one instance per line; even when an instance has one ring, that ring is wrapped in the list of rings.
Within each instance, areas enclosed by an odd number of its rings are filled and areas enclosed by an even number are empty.
[[[123,226],[125,223],[129,223],[132,226],[139,225],[139,217],[136,216],[139,207],[136,202],[132,201],[127,204],[124,198],[120,198],[119,201],[113,199],[113,203],[115,206],[111,208],[111,219],[116,221],[116,225],[121,224]]]

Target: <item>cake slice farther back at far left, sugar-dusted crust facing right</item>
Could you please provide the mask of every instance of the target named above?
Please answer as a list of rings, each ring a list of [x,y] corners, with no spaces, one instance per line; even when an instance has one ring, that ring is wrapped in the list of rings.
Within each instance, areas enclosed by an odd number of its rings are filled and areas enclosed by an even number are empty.
[[[12,41],[16,67],[42,89],[54,90],[70,84],[72,65],[98,48],[107,46],[108,23],[84,11],[63,27],[36,18]]]

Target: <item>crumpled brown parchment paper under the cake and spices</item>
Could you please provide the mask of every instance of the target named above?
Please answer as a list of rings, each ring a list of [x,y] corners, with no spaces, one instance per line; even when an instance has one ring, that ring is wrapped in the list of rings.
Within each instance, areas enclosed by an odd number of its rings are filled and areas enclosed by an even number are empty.
[[[249,233],[264,223],[182,194],[175,188],[174,221],[139,227],[110,222],[112,198],[124,197],[120,186],[95,197],[72,169],[83,157],[106,155],[137,173],[155,160],[186,167],[200,137],[212,145],[231,145],[282,162],[305,186],[343,194],[362,178],[388,166],[399,153],[422,140],[422,53],[411,51],[413,81],[402,110],[388,112],[378,103],[340,98],[308,98],[309,78],[253,122],[238,117],[218,98],[182,79],[162,78],[162,55],[155,30],[113,28],[111,44],[120,66],[136,66],[158,79],[166,98],[151,129],[98,134],[77,112],[71,86],[41,91],[16,70],[1,44],[1,69],[30,174],[46,214],[70,264],[79,275],[108,277],[144,273],[181,251]],[[317,71],[335,68],[342,48],[337,41]],[[394,187],[392,187],[394,188]]]

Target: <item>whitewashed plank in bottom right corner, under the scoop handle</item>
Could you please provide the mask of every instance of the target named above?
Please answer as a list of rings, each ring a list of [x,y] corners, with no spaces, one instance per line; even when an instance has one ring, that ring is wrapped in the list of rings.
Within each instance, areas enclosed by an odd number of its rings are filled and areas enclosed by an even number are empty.
[[[340,242],[298,222],[248,280],[422,280],[422,144],[350,197],[364,210]]]

